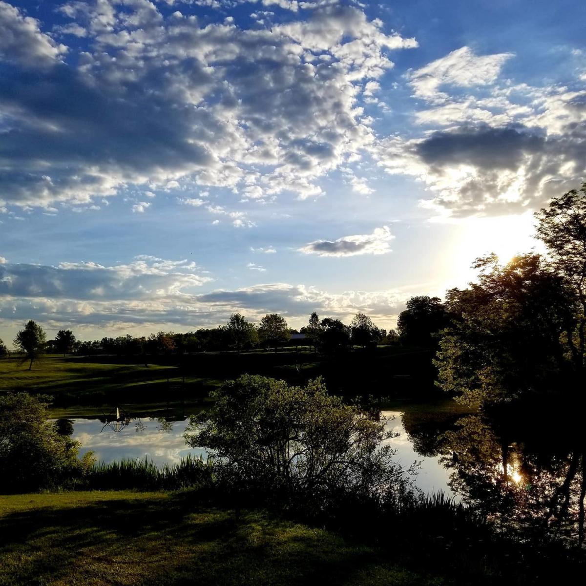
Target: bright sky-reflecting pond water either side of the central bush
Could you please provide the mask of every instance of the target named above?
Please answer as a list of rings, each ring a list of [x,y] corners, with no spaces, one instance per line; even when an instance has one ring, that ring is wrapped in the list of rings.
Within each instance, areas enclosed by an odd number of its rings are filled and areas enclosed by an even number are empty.
[[[386,430],[398,433],[389,440],[396,449],[395,459],[408,468],[413,462],[420,462],[416,485],[425,493],[443,490],[452,495],[448,486],[449,471],[435,456],[421,455],[403,427],[403,413],[382,411],[387,420]],[[121,458],[148,458],[155,464],[176,464],[188,454],[204,455],[203,449],[192,449],[185,445],[183,433],[189,423],[188,417],[172,421],[169,417],[132,418],[130,421],[110,424],[107,418],[73,419],[73,439],[81,442],[80,454],[93,451],[98,461],[112,462]],[[124,420],[124,417],[121,418]]]

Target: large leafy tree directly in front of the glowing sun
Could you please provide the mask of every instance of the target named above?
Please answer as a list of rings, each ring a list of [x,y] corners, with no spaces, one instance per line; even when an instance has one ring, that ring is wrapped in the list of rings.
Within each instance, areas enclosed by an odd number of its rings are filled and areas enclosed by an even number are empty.
[[[574,292],[537,254],[504,267],[489,255],[474,266],[478,282],[447,294],[453,319],[435,360],[440,387],[483,405],[563,386]]]

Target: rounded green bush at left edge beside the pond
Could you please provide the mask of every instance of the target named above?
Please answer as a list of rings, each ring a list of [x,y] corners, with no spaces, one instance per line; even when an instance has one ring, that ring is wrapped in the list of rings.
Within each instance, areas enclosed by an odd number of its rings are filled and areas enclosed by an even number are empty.
[[[47,421],[46,404],[28,393],[0,397],[0,492],[69,486],[84,476],[92,455]]]

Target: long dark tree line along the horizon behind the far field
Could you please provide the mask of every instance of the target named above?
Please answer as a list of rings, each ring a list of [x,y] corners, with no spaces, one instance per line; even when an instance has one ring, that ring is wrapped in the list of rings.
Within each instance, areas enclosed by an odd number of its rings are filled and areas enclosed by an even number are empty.
[[[425,300],[428,300],[427,304]],[[423,300],[423,301],[422,301]],[[272,349],[275,352],[285,345],[308,346],[325,355],[339,355],[353,346],[376,346],[403,341],[409,344],[427,345],[430,332],[425,331],[425,311],[433,312],[440,304],[438,298],[418,297],[411,300],[401,314],[398,332],[386,331],[374,325],[372,319],[358,313],[350,325],[340,319],[320,319],[316,312],[309,317],[308,324],[301,329],[289,328],[285,318],[279,314],[267,314],[260,323],[248,321],[239,313],[230,315],[226,325],[217,328],[201,328],[191,332],[156,332],[149,336],[126,334],[115,338],[105,336],[98,340],[81,341],[70,329],[62,329],[52,340],[47,340],[45,330],[30,320],[13,340],[16,351],[29,369],[43,353],[58,353],[66,356],[76,354],[117,356],[165,356],[194,352],[223,352],[230,350]],[[428,308],[427,306],[430,306]],[[413,314],[413,315],[411,315]],[[423,332],[423,334],[422,334]],[[302,339],[292,339],[302,334]],[[0,340],[0,356],[9,351]]]

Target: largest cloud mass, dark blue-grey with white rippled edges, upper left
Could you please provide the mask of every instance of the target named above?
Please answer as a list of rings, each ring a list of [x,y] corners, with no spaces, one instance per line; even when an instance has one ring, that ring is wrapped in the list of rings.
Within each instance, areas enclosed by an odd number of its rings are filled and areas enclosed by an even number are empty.
[[[319,178],[376,140],[356,107],[363,84],[417,42],[353,6],[302,3],[309,17],[295,20],[301,5],[278,4],[292,19],[242,29],[147,0],[66,2],[69,23],[47,31],[0,0],[0,207],[133,186],[320,195]]]

